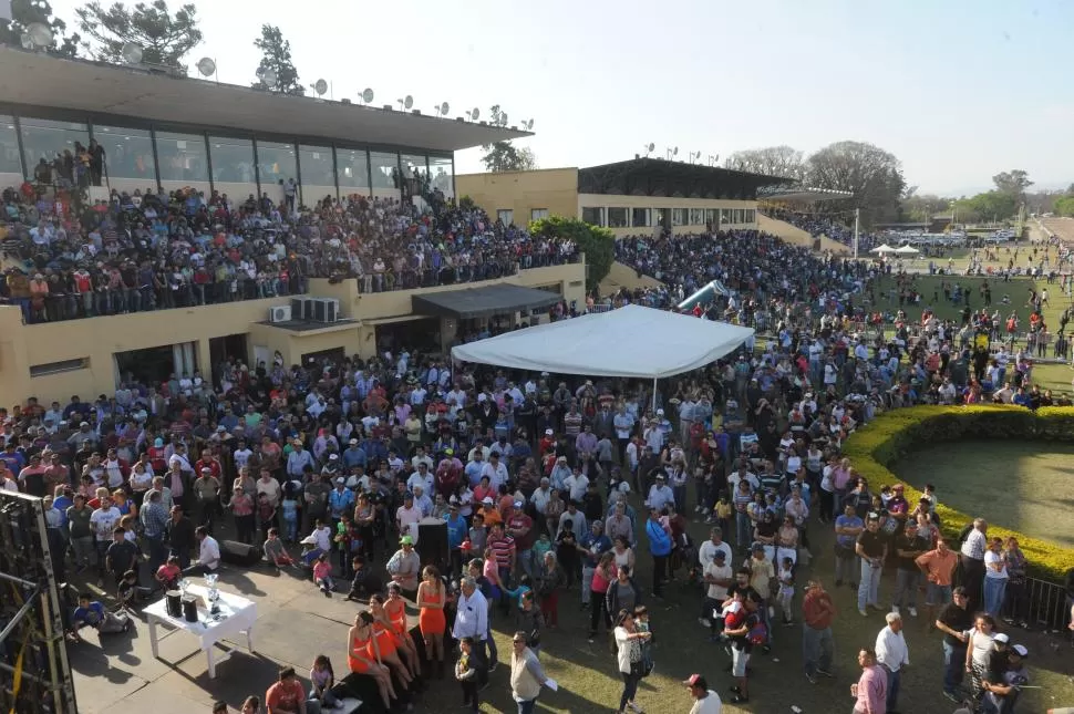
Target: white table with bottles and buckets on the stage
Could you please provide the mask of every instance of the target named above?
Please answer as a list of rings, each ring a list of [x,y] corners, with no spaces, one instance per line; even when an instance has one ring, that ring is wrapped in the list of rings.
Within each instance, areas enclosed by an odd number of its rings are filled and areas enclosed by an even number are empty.
[[[187,593],[202,598],[203,601],[208,601],[208,588],[204,586],[192,583],[187,588]],[[200,606],[202,602],[198,604]],[[156,625],[158,623],[172,628],[172,632],[167,632],[164,637],[180,630],[186,630],[202,640],[202,650],[209,661],[209,679],[216,679],[217,662],[225,662],[231,656],[231,649],[227,648],[227,651],[217,659],[215,645],[220,640],[245,634],[246,646],[252,654],[254,622],[257,620],[257,606],[251,600],[240,598],[230,592],[220,592],[220,599],[217,601],[217,604],[219,606],[220,612],[216,615],[209,614],[209,611],[204,607],[198,607],[197,622],[187,622],[184,618],[173,618],[169,615],[164,598],[145,608],[143,612],[149,624],[149,645],[153,649],[153,656],[156,659],[161,658],[157,652]],[[164,637],[159,639],[163,640]]]

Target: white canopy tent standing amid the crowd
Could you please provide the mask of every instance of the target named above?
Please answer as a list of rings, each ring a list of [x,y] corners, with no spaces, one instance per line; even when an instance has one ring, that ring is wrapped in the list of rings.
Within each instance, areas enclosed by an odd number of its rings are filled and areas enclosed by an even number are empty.
[[[452,348],[459,362],[658,380],[739,349],[752,328],[629,304]]]

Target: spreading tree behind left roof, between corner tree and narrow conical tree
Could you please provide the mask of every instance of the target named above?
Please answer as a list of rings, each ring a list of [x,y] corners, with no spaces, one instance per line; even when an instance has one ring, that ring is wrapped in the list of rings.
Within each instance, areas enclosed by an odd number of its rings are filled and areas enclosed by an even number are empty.
[[[165,0],[140,2],[134,8],[122,2],[104,8],[93,0],[75,10],[75,14],[79,27],[96,43],[91,48],[92,54],[105,62],[125,62],[123,45],[133,42],[142,48],[143,62],[185,71],[179,61],[202,43],[193,4],[185,4],[173,14]]]

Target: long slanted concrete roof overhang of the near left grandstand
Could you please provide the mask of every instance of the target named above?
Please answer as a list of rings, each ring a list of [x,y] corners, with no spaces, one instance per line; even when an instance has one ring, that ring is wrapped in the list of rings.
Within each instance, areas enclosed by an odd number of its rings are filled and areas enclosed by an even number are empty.
[[[0,46],[0,101],[162,124],[456,152],[531,136],[515,128],[272,94],[193,76]],[[357,101],[357,100],[355,100]]]

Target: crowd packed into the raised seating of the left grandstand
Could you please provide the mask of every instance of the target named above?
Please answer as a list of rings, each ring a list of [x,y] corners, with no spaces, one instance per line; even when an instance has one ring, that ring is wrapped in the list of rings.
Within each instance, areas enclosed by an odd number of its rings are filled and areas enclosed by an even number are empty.
[[[0,301],[44,322],[301,294],[310,278],[380,292],[576,260],[570,241],[531,237],[472,205],[344,196],[307,207],[295,188],[275,200],[113,189],[95,203],[30,182],[9,188]]]

